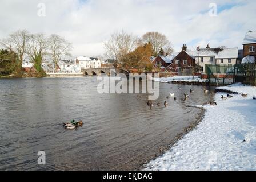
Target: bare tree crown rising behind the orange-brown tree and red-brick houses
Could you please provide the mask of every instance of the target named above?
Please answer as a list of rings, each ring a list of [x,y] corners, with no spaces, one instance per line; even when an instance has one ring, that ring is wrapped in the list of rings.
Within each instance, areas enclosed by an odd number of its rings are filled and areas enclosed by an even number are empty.
[[[151,43],[153,47],[153,56],[157,56],[161,49],[163,49],[163,51],[168,54],[173,52],[170,41],[165,35],[159,32],[147,32],[139,40],[139,43],[141,46],[146,43]]]

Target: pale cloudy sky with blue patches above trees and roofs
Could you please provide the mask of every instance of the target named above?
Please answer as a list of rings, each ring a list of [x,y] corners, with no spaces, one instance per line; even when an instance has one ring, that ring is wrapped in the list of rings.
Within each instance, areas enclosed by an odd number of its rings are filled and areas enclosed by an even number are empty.
[[[38,3],[46,16],[38,16]],[[210,3],[217,5],[216,16],[209,14]],[[24,28],[59,34],[73,43],[73,57],[103,55],[102,42],[120,30],[161,32],[175,51],[185,43],[188,49],[207,43],[242,48],[246,32],[256,30],[255,7],[255,0],[1,0],[0,39]]]

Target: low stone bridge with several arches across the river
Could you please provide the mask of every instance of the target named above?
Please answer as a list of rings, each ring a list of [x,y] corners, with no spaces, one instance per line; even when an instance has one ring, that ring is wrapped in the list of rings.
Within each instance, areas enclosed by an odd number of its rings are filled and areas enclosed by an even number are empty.
[[[82,69],[82,73],[86,76],[97,76],[101,74],[106,74],[110,75],[110,71],[114,70],[115,74],[118,73],[125,73],[126,75],[129,74],[128,71],[126,71],[123,68],[114,68],[114,67],[108,67],[108,68],[87,68],[87,69]]]

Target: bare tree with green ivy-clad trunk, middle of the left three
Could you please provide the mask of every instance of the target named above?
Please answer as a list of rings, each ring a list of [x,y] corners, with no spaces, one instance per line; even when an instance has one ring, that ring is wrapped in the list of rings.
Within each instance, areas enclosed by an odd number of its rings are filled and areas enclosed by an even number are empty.
[[[27,55],[32,63],[35,63],[37,71],[41,70],[41,64],[47,53],[47,38],[44,34],[30,34],[27,43]]]

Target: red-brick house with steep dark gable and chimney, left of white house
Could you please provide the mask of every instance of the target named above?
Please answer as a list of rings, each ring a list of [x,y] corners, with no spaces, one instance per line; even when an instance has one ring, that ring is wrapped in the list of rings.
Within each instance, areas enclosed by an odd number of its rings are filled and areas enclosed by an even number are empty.
[[[183,44],[181,52],[173,57],[171,61],[172,63],[167,67],[167,69],[172,72],[183,71],[184,69],[190,69],[195,66],[195,57],[192,52],[187,51],[186,44]]]

